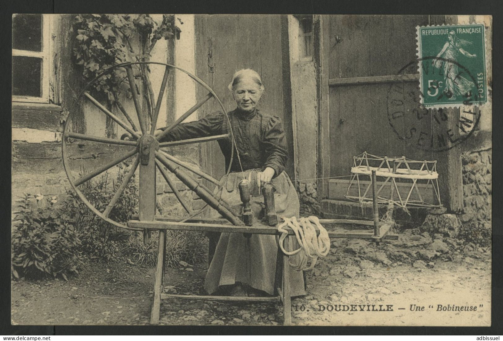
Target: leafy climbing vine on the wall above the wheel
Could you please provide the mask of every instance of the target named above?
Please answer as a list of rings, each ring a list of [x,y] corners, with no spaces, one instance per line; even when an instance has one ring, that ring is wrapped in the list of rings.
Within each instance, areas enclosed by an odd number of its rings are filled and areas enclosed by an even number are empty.
[[[76,40],[74,62],[81,67],[86,84],[115,64],[148,61],[159,39],[173,39],[181,32],[174,25],[172,16],[163,15],[162,22],[158,24],[148,14],[80,14],[75,17],[73,31]],[[148,72],[147,67],[138,66],[135,77],[141,78],[151,90],[146,77]],[[127,84],[126,71],[118,67],[95,82],[90,92],[112,107],[123,91],[131,98],[131,89]],[[150,98],[147,98],[147,105],[151,108]]]

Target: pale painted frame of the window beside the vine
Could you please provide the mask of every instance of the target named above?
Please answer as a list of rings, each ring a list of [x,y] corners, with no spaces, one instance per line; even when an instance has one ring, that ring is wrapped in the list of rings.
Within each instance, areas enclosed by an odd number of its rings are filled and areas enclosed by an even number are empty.
[[[15,14],[16,15],[16,14]],[[36,57],[42,59],[41,81],[40,90],[41,96],[23,96],[23,95],[12,95],[12,102],[23,102],[23,103],[50,103],[50,77],[52,75],[52,29],[54,23],[52,22],[52,16],[47,14],[42,14],[42,51],[30,51],[30,50],[19,50],[12,49],[12,56],[22,56],[22,57]],[[11,79],[12,82],[12,79]]]

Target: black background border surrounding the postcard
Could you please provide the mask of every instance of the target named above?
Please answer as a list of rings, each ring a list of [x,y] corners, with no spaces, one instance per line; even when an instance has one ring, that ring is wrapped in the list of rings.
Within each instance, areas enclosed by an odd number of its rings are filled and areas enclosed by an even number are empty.
[[[166,0],[4,0],[0,24],[2,38],[0,47],[1,74],[4,75],[0,92],[2,96],[3,121],[1,129],[4,146],[11,145],[11,32],[13,13],[194,13],[194,14],[452,14],[452,15],[492,15],[493,16],[493,80],[501,81],[501,67],[497,61],[501,51],[501,5],[495,0],[474,2],[440,1],[249,1],[237,2],[221,0],[167,2]],[[502,108],[501,87],[493,84],[493,108]],[[493,131],[503,128],[501,110],[493,109]],[[501,135],[493,134],[492,170],[493,188],[501,188]],[[11,148],[1,149],[3,162],[0,165],[0,190],[2,200],[2,224],[0,229],[0,285],[4,288],[0,295],[0,335],[179,335],[179,334],[328,334],[328,335],[498,335],[502,333],[503,275],[500,260],[503,259],[502,215],[500,207],[501,190],[492,191],[492,311],[491,327],[371,327],[371,326],[22,326],[11,325],[11,275],[10,238],[11,229]]]

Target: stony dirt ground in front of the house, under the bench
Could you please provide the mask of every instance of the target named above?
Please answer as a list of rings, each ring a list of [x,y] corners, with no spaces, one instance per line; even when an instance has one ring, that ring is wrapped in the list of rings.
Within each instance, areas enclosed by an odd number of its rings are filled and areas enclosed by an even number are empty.
[[[292,300],[292,322],[488,326],[490,254],[417,229],[379,246],[332,239],[329,254],[307,272],[308,295]],[[204,294],[206,269],[205,263],[168,269],[165,292]],[[153,276],[153,267],[124,258],[90,263],[69,282],[12,281],[12,324],[148,324]],[[437,311],[439,305],[446,311]],[[453,305],[471,311],[452,311]],[[160,316],[160,324],[170,325],[278,325],[283,312],[274,303],[164,300]]]

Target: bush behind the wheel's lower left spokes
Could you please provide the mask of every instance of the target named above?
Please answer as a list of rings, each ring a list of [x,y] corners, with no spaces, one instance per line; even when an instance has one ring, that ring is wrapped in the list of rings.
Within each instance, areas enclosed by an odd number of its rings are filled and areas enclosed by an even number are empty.
[[[108,203],[122,184],[129,172],[130,163],[126,166],[117,165],[117,181],[111,181],[108,172],[80,185],[80,191],[100,212],[105,211]],[[80,176],[85,175],[81,169]],[[138,191],[135,175],[131,178],[123,194],[110,212],[109,218],[125,224],[133,214],[136,214]],[[119,251],[119,241],[125,240],[125,234],[95,215],[73,190],[68,190],[69,199],[65,202],[65,210],[75,220],[75,226],[81,240],[81,250],[90,259],[109,260]],[[112,233],[111,233],[112,232]]]

